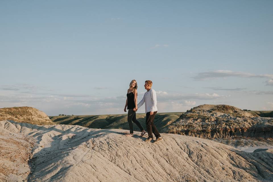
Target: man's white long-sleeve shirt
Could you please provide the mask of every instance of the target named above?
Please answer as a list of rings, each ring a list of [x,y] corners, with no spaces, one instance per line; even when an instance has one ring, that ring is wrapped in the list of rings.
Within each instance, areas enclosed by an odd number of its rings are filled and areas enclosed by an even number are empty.
[[[145,92],[142,100],[138,103],[137,107],[139,108],[145,102],[145,113],[150,111],[154,112],[157,111],[157,101],[156,101],[156,91],[154,89],[150,89],[149,91]]]

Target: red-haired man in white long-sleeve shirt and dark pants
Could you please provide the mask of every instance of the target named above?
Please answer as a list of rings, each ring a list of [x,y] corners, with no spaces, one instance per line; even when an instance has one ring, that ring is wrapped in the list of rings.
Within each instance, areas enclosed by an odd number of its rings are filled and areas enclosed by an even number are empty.
[[[144,94],[142,100],[138,103],[137,107],[139,108],[142,106],[145,102],[145,113],[146,113],[146,128],[148,131],[148,138],[145,140],[146,142],[150,142],[154,139],[153,133],[156,136],[156,140],[154,143],[157,143],[163,138],[160,136],[158,130],[156,129],[156,126],[154,125],[154,118],[157,113],[157,107],[156,107],[156,91],[152,89],[153,82],[151,80],[145,81],[145,89],[147,92]]]

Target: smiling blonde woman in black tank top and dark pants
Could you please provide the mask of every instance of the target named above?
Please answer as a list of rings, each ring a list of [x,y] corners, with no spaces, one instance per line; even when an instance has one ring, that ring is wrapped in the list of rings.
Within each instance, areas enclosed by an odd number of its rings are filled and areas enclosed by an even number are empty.
[[[139,123],[139,121],[137,121],[137,117],[136,117],[136,111],[137,111],[137,81],[136,80],[131,81],[130,87],[127,90],[127,99],[126,99],[126,103],[124,107],[124,112],[126,112],[126,107],[128,109],[127,120],[130,127],[130,134],[127,134],[126,136],[133,137],[134,135],[133,123],[132,123],[133,121],[134,123],[136,123],[136,125],[139,127],[141,131],[140,137],[143,137],[146,131],[144,130],[142,125]]]

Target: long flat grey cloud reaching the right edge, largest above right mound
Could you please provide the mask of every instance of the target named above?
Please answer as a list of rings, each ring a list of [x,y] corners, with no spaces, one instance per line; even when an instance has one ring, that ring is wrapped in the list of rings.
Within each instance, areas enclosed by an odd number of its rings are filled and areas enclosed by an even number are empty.
[[[197,73],[197,75],[192,78],[194,80],[207,80],[207,79],[215,79],[215,78],[226,78],[231,76],[243,77],[243,78],[273,78],[273,75],[269,75],[269,74],[255,75],[252,73],[235,72],[235,71],[229,71],[229,70],[201,72],[201,73]]]

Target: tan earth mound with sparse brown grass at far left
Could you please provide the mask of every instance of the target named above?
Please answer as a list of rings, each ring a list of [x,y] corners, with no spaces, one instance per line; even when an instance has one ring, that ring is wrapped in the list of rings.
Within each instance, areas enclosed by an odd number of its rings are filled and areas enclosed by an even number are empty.
[[[55,125],[46,113],[33,107],[5,107],[0,109],[0,121],[12,120],[34,125]]]

